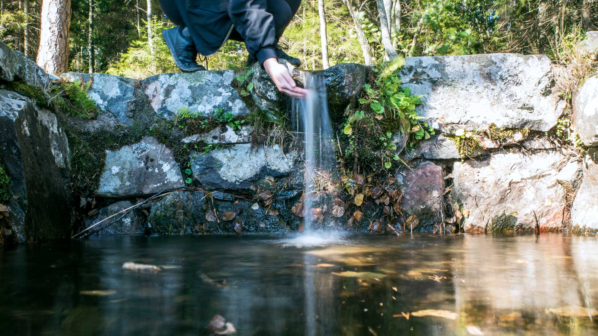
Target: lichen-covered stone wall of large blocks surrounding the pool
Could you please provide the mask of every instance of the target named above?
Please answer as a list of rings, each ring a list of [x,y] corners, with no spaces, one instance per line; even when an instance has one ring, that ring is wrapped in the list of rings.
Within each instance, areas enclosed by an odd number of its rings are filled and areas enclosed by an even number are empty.
[[[56,78],[3,44],[0,53],[0,157],[12,182],[8,216],[0,217],[5,240],[68,237],[164,190],[165,196],[98,227],[99,233],[298,230],[301,218],[291,207],[303,190],[301,148],[257,144],[249,122],[189,134],[176,118],[181,109],[203,117],[221,109],[237,121],[257,109],[271,118],[288,114],[291,101],[263,69],[253,68],[254,89],[246,96],[239,88],[247,83],[234,71],[142,81],[63,74],[92,81],[88,95],[101,113],[84,119],[6,90],[14,81],[47,87]],[[297,69],[288,66],[296,77]],[[355,64],[325,71],[333,121],[343,121],[370,74]],[[598,78],[585,81],[573,106],[575,128],[590,147],[581,162],[547,136],[566,103],[554,90],[546,56],[410,57],[401,77],[423,95],[416,112],[436,134],[405,157],[409,167],[392,172],[403,193],[395,230],[408,231],[413,223],[414,231],[434,231],[441,223],[463,231],[598,230]],[[490,125],[505,136],[483,132]],[[459,129],[478,142],[465,158],[455,142]],[[273,195],[264,197],[266,190]],[[380,214],[371,216],[367,221]],[[417,221],[407,224],[407,218]]]

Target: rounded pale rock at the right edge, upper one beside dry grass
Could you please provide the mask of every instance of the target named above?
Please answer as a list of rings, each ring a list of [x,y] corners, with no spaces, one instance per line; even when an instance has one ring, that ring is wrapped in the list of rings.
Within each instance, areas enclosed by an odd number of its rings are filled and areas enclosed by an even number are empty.
[[[586,146],[598,146],[598,76],[588,78],[573,100],[573,127]]]

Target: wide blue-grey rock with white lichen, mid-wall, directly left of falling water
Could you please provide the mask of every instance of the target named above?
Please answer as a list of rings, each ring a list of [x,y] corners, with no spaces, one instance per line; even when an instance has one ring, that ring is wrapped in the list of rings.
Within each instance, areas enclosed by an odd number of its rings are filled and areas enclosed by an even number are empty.
[[[203,187],[213,190],[255,190],[255,182],[266,176],[279,178],[294,169],[296,152],[239,143],[205,154],[190,154],[193,175]]]

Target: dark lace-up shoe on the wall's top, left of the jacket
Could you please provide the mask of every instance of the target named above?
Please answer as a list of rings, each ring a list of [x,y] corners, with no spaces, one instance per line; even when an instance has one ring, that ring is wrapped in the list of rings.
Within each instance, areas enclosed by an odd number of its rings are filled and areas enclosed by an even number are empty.
[[[170,50],[172,59],[182,72],[195,72],[205,70],[202,65],[197,64],[197,50],[191,39],[188,28],[178,26],[162,30],[164,42]]]

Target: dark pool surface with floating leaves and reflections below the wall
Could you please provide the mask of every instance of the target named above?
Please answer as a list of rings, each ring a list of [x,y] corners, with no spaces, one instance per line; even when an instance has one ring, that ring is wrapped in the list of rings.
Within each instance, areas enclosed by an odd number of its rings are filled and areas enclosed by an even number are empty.
[[[103,236],[0,250],[0,334],[209,335],[214,314],[237,335],[598,334],[595,236],[325,244]],[[414,316],[426,313],[443,317]]]

